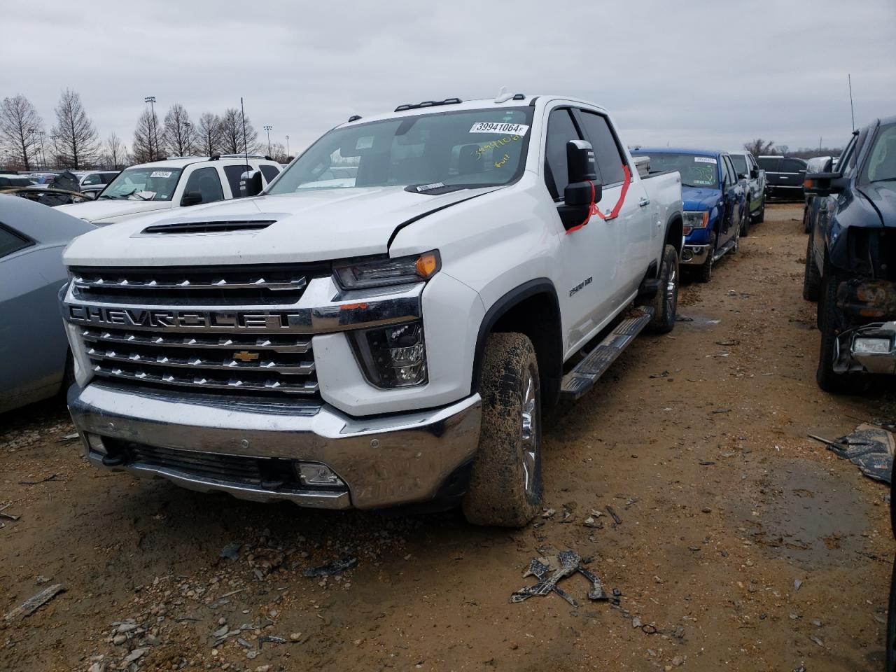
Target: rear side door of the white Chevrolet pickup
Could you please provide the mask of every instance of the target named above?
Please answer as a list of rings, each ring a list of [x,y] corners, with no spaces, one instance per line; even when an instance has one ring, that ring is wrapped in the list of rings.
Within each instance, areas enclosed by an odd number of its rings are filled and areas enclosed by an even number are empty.
[[[586,108],[574,109],[573,115],[585,140],[594,148],[598,178],[603,188],[598,207],[604,214],[612,211],[622,199],[625,168],[629,168],[631,182],[619,213],[615,219],[605,222],[610,225],[616,241],[619,285],[614,292],[613,307],[619,308],[638,290],[650,264],[652,213],[656,206],[650,203],[641,179],[633,174],[636,171],[628,166],[628,158],[609,117]]]

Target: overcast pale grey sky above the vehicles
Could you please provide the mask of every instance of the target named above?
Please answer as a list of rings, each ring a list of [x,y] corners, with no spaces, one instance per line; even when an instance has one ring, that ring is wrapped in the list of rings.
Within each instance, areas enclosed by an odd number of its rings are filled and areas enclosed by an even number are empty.
[[[350,115],[494,97],[502,85],[607,108],[629,144],[842,145],[896,114],[896,2],[233,2],[0,5],[0,98],[47,133],[60,90],[130,144],[145,96],[195,120],[246,99],[296,153]]]

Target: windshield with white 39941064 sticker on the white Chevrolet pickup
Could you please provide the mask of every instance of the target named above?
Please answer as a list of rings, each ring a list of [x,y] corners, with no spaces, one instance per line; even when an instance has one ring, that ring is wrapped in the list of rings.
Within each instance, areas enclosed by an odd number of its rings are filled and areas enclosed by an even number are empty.
[[[506,185],[525,165],[532,108],[439,112],[337,128],[287,168],[268,194],[413,186],[420,194]]]

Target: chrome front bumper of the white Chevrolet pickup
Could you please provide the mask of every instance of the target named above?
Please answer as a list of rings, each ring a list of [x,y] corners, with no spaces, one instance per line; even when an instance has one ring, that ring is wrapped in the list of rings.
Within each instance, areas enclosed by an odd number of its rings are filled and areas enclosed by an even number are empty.
[[[167,478],[202,492],[328,509],[373,509],[432,499],[468,463],[479,439],[481,399],[379,418],[351,418],[319,401],[250,401],[138,390],[95,381],[73,385],[68,408],[91,463],[139,477]],[[263,485],[211,477],[164,463],[110,459],[116,446],[190,451],[196,460],[312,462],[340,487]],[[104,455],[104,452],[107,454]]]

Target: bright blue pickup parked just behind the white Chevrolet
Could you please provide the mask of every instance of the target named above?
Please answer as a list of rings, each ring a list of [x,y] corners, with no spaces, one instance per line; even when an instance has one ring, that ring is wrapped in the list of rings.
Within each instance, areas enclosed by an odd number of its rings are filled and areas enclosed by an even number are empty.
[[[698,280],[709,282],[712,264],[723,254],[737,252],[741,228],[749,217],[745,180],[737,177],[725,151],[639,147],[632,154],[650,157],[650,173],[681,174],[685,202],[681,263],[690,265]]]

